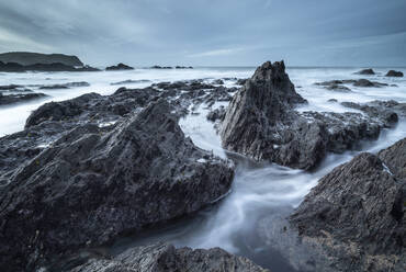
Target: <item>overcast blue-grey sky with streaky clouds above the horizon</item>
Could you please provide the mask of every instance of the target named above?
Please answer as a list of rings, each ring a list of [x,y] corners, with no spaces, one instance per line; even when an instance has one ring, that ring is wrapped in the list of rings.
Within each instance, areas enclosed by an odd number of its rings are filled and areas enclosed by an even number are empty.
[[[406,0],[0,0],[0,53],[105,66],[406,66]]]

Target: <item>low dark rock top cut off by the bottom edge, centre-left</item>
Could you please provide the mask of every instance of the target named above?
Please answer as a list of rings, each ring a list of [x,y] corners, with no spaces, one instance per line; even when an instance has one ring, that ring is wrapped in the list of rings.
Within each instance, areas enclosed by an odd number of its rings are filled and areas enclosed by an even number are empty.
[[[155,243],[124,251],[113,259],[91,259],[70,272],[137,271],[137,272],[267,272],[244,257],[233,256],[221,248],[174,248]]]

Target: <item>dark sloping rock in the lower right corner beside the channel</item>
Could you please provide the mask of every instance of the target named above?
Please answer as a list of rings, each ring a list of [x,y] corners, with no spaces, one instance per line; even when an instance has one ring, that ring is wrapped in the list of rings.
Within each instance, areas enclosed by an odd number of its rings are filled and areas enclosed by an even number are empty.
[[[292,226],[339,271],[403,271],[405,161],[406,138],[335,168],[292,214]]]

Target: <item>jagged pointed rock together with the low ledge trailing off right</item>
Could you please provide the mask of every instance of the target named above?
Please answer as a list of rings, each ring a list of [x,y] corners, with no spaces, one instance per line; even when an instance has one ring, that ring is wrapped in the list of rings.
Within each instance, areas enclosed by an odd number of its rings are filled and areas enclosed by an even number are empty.
[[[283,61],[266,63],[228,105],[221,136],[223,146],[256,160],[300,169],[316,167],[327,151],[342,152],[360,139],[375,139],[397,122],[404,104],[363,104],[364,113],[295,111],[306,101],[296,93]],[[351,107],[356,107],[352,105]],[[210,115],[215,120],[216,113]]]

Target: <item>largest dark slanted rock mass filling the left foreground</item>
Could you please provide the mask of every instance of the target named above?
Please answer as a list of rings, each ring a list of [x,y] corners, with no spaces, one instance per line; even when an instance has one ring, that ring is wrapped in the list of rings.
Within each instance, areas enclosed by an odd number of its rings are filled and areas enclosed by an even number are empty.
[[[225,195],[233,166],[185,138],[172,110],[159,100],[113,126],[76,125],[15,166],[0,191],[0,268],[34,270]]]

